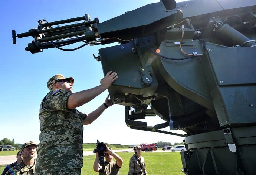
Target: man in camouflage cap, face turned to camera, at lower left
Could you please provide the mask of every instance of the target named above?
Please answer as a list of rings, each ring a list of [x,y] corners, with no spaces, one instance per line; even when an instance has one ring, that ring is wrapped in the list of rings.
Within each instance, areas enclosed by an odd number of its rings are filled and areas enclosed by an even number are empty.
[[[24,143],[21,147],[22,162],[9,169],[5,175],[33,175],[35,173],[37,146],[33,141]]]

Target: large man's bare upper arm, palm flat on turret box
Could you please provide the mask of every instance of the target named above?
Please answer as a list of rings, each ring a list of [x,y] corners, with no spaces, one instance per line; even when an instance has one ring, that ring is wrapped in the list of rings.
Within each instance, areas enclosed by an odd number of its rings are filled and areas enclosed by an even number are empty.
[[[70,95],[67,102],[67,108],[74,109],[94,99],[111,86],[111,84],[118,78],[116,75],[116,72],[112,73],[112,71],[110,71],[106,74],[105,78],[101,79],[101,85]]]

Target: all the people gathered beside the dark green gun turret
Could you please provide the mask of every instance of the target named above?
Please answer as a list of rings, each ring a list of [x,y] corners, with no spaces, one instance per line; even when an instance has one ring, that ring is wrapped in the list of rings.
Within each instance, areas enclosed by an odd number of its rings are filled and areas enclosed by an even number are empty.
[[[40,104],[40,143],[24,143],[17,153],[17,162],[8,165],[2,175],[81,175],[83,125],[91,124],[113,104],[108,96],[103,104],[87,115],[76,107],[100,95],[117,78],[116,72],[109,71],[100,80],[99,86],[76,93],[73,93],[75,81],[72,77],[57,74],[50,78],[47,82],[50,92]],[[108,147],[104,154],[106,161],[103,166],[99,164],[96,154],[94,171],[99,175],[119,175],[122,158]],[[140,146],[135,148],[135,154],[130,159],[128,174],[147,175]]]

